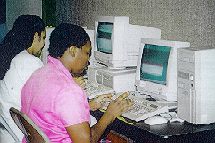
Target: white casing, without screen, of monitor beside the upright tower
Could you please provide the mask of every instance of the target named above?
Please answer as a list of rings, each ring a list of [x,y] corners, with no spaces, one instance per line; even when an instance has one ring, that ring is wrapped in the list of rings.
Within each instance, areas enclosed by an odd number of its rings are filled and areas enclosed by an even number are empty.
[[[141,59],[145,44],[171,47],[167,66],[166,85],[140,80]],[[150,95],[156,100],[177,101],[177,49],[189,46],[189,42],[142,38],[135,79],[137,90],[142,94]]]

